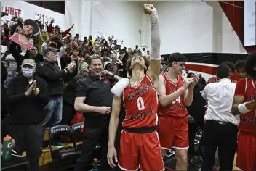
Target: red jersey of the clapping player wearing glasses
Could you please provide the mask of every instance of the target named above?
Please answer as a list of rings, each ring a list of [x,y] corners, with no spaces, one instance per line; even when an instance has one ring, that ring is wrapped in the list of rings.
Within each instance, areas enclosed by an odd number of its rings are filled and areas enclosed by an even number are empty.
[[[166,73],[162,76],[164,77],[166,95],[174,93],[183,86],[183,75],[177,75],[177,83],[172,83]],[[172,101],[172,104],[168,104],[166,107],[159,104],[159,114],[162,116],[185,117],[188,114],[187,109],[185,109],[185,93],[182,93],[175,101]]]

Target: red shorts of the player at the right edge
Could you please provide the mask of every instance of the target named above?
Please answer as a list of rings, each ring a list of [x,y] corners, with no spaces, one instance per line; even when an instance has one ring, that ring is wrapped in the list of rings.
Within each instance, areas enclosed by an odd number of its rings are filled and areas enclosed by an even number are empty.
[[[241,170],[256,170],[256,137],[239,131],[237,138],[236,167]]]

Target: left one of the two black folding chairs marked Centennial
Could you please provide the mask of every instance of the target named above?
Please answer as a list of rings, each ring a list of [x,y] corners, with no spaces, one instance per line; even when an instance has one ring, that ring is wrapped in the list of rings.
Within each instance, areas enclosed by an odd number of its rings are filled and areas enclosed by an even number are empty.
[[[52,146],[53,142],[65,142],[65,146],[55,148]],[[67,170],[74,167],[76,159],[81,154],[76,148],[73,133],[68,125],[57,125],[49,129],[49,149],[55,170]]]

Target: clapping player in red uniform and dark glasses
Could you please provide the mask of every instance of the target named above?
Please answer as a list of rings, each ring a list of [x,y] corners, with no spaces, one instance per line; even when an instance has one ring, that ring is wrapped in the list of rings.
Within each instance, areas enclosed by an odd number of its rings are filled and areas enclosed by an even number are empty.
[[[175,148],[175,170],[187,170],[188,120],[185,107],[193,101],[193,88],[199,80],[197,75],[183,78],[186,58],[183,54],[171,54],[169,71],[159,76],[159,137],[161,153]]]

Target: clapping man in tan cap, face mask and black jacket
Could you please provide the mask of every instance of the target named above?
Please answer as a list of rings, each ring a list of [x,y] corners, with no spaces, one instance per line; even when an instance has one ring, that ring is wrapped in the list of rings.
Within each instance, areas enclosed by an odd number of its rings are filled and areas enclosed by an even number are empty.
[[[42,121],[49,93],[47,83],[34,75],[33,59],[24,59],[21,68],[23,75],[12,78],[7,88],[9,125],[12,138],[18,144],[15,151],[25,150],[31,170],[39,170]]]

